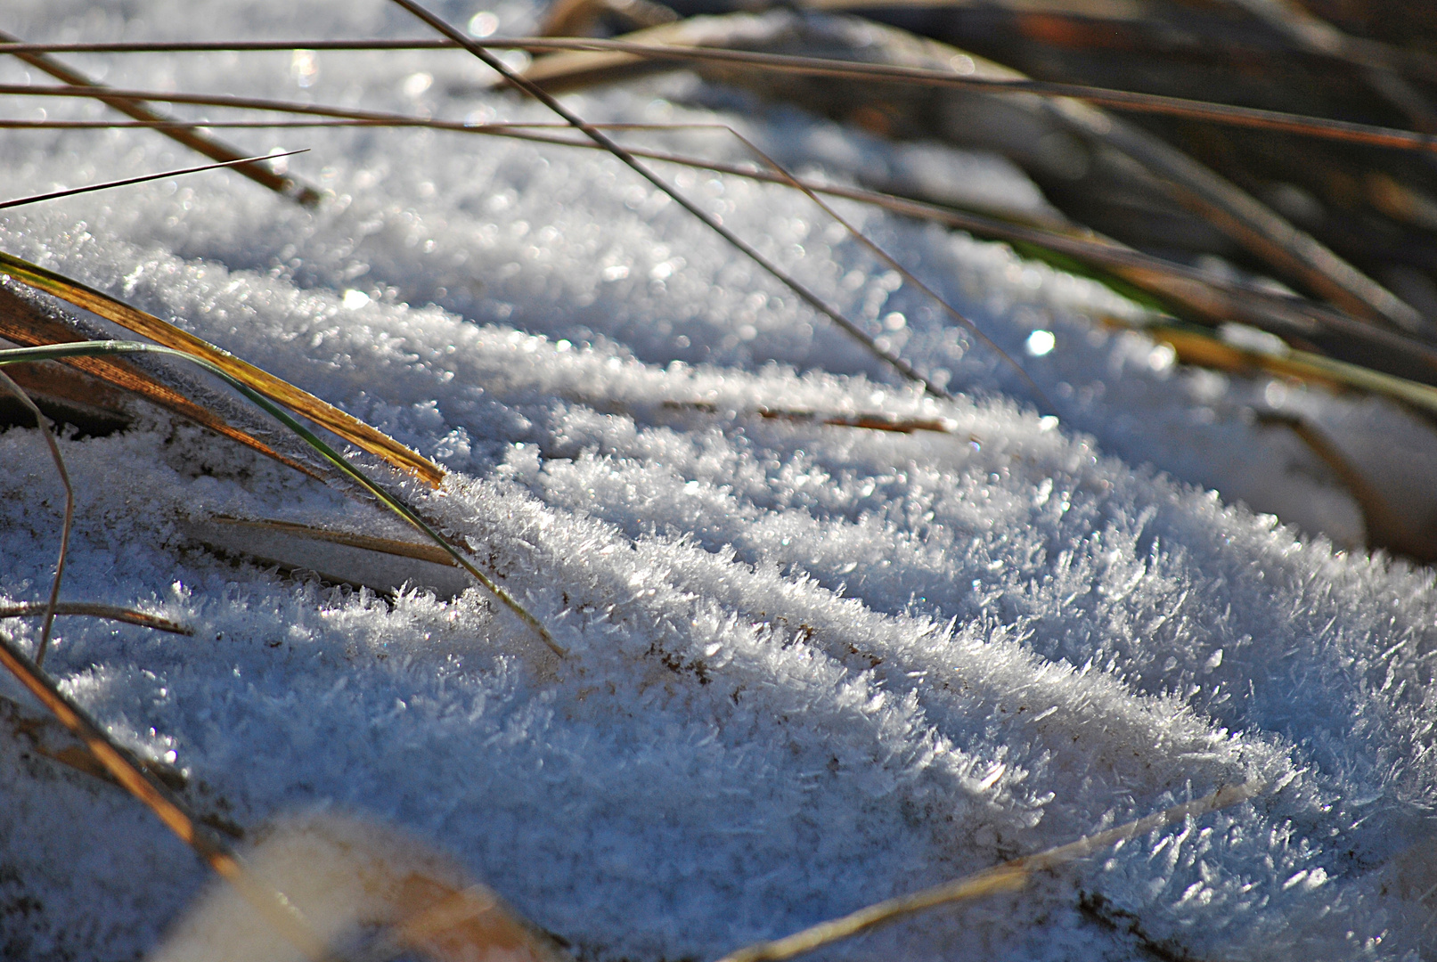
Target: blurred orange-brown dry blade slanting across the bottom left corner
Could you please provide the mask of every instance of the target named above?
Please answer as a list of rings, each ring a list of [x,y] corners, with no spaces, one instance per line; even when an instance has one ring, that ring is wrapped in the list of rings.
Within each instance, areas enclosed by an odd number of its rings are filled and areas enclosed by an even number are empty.
[[[282,893],[251,877],[230,847],[201,824],[178,795],[91,721],[85,711],[56,688],[40,666],[26,658],[4,632],[0,632],[0,665],[85,742],[115,781],[154,811],[170,831],[233,884],[244,900],[295,948],[312,962],[328,962],[333,958]]]

